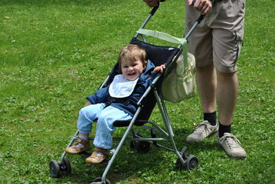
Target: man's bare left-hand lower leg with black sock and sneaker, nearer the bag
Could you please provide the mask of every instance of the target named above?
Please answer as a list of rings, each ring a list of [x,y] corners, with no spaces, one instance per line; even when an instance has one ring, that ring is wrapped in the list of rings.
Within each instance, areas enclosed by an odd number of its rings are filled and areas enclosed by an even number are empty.
[[[212,64],[204,67],[197,67],[197,86],[201,97],[203,108],[203,122],[195,127],[186,141],[202,141],[204,138],[217,132],[218,124],[216,119],[216,91],[217,76]]]

